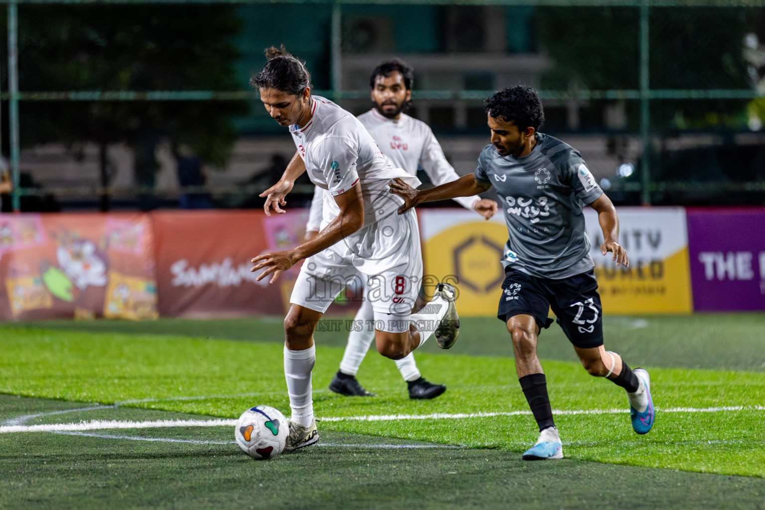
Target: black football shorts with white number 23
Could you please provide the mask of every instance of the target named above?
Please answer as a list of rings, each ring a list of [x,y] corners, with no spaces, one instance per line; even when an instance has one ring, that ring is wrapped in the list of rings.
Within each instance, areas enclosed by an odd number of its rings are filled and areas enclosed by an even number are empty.
[[[552,280],[505,270],[497,318],[507,322],[513,315],[530,315],[542,330],[552,324],[550,308],[575,346],[588,349],[603,345],[603,308],[593,271]]]

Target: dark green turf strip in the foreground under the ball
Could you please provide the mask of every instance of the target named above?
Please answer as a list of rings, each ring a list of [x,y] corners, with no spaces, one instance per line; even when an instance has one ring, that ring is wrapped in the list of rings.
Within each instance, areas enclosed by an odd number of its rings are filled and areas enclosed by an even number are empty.
[[[0,423],[198,418],[78,408],[83,404],[0,395]],[[258,462],[239,452],[231,427],[0,434],[0,508],[539,510],[589,509],[597,502],[692,510],[757,508],[765,494],[765,479],[757,477],[571,459],[529,463],[500,449],[332,430],[321,435],[315,447]]]

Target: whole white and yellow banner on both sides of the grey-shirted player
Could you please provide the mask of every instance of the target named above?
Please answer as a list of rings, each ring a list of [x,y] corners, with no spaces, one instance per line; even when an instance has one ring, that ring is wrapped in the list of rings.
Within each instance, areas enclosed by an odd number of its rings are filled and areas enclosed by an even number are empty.
[[[688,232],[680,207],[620,207],[620,241],[630,268],[617,268],[600,252],[597,213],[585,209],[591,255],[607,313],[689,313]],[[425,274],[453,278],[465,317],[493,317],[504,278],[500,258],[507,241],[502,215],[490,221],[467,210],[420,210]]]

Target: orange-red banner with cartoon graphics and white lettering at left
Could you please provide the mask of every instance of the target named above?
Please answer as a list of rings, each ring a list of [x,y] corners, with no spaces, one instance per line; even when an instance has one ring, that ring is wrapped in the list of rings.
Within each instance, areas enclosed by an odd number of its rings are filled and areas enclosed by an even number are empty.
[[[288,250],[308,210],[0,214],[0,319],[284,315],[301,263],[269,284],[250,259]],[[329,313],[359,306],[343,292]]]

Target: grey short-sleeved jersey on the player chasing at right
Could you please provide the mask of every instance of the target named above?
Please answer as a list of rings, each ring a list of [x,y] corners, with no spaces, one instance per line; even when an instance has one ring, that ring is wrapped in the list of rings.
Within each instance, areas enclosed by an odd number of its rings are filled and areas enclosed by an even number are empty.
[[[487,145],[475,178],[500,196],[509,239],[503,265],[532,276],[561,279],[594,268],[584,229],[584,203],[603,194],[581,154],[549,135],[536,134],[531,154],[501,156]]]

